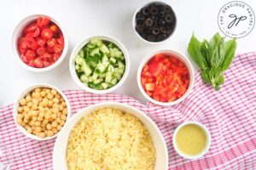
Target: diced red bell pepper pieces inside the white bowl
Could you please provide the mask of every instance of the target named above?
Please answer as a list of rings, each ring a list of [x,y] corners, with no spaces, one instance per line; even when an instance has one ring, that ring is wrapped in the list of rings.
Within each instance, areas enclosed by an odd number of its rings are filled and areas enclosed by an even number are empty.
[[[172,102],[186,93],[189,71],[175,56],[156,54],[144,65],[141,83],[149,97],[160,102]]]

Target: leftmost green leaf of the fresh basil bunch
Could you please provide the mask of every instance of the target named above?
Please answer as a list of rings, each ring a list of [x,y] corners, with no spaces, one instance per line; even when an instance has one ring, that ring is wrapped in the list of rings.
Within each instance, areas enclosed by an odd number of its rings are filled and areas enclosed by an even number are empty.
[[[191,59],[193,59],[195,64],[201,69],[205,69],[207,67],[206,59],[201,54],[201,43],[196,39],[194,34],[190,39],[188,52]]]

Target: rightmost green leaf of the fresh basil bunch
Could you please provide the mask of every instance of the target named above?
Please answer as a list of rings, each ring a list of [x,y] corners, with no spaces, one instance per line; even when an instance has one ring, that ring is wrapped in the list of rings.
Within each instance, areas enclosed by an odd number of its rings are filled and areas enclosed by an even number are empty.
[[[226,71],[230,67],[236,51],[236,39],[231,39],[230,41],[224,42],[224,49],[225,54],[221,71]]]

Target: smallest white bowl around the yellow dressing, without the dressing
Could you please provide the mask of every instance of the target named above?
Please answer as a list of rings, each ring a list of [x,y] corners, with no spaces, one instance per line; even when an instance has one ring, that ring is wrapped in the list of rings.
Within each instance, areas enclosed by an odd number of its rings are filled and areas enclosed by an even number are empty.
[[[200,154],[196,155],[196,156],[189,156],[189,155],[186,155],[184,154],[181,150],[178,150],[177,148],[177,143],[176,143],[176,136],[177,136],[177,132],[178,130],[181,128],[181,127],[184,127],[188,124],[194,124],[198,127],[201,127],[201,129],[206,133],[207,135],[207,145],[205,147],[204,150],[201,151]],[[209,132],[209,130],[207,129],[207,127],[205,127],[203,124],[201,124],[200,122],[195,122],[195,121],[188,121],[188,122],[183,122],[182,124],[180,124],[174,131],[173,133],[173,136],[172,136],[172,144],[173,144],[173,147],[174,149],[177,151],[177,154],[179,156],[182,156],[183,158],[186,158],[186,159],[198,159],[198,158],[201,158],[202,156],[204,156],[207,151],[210,149],[210,146],[211,146],[211,133]]]

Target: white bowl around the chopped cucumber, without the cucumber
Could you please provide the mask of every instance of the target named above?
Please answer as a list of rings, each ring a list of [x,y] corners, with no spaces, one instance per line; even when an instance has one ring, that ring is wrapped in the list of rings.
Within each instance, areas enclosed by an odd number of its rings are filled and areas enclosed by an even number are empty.
[[[90,42],[90,40],[92,38],[99,38],[101,40],[105,40],[108,42],[113,42],[115,45],[117,45],[121,51],[123,52],[124,56],[125,56],[125,73],[123,75],[123,77],[120,79],[120,81],[114,85],[112,88],[108,88],[108,89],[104,89],[104,90],[96,90],[93,88],[89,88],[86,87],[83,82],[81,82],[79,80],[79,77],[77,76],[76,70],[75,70],[75,58],[77,56],[77,54],[79,53],[79,50],[81,48],[84,47],[84,45],[86,45],[88,42]],[[119,42],[117,39],[115,39],[114,37],[110,37],[110,36],[93,36],[93,37],[87,37],[85,38],[82,42],[79,42],[78,45],[73,48],[70,60],[69,60],[69,69],[71,72],[71,76],[73,77],[73,80],[79,85],[80,88],[83,88],[86,92],[89,92],[91,94],[108,94],[110,92],[113,92],[115,89],[119,88],[123,82],[125,82],[126,77],[128,76],[128,72],[130,70],[130,58],[128,55],[128,52],[125,48],[125,46]]]

